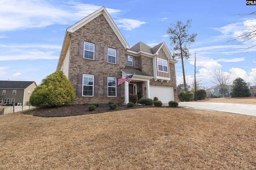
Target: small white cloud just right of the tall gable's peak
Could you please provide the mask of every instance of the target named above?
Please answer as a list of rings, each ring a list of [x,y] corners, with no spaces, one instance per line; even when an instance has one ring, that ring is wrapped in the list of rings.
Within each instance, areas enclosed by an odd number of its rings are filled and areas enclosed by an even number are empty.
[[[115,20],[116,24],[120,28],[124,28],[124,30],[131,31],[132,29],[138,28],[143,24],[146,24],[144,21],[139,20],[131,20],[131,19],[119,19]]]

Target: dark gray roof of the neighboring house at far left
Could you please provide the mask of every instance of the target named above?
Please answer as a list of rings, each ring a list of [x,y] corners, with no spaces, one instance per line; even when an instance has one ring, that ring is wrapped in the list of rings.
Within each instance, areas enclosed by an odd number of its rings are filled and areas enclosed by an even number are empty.
[[[0,88],[4,89],[25,89],[34,82],[30,81],[0,81]]]

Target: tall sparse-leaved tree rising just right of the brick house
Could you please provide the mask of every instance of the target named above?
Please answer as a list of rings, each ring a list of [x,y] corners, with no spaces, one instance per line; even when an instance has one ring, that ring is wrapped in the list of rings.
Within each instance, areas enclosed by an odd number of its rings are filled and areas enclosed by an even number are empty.
[[[184,88],[186,89],[186,77],[184,70],[184,60],[189,59],[190,53],[187,48],[190,43],[193,43],[196,40],[196,33],[190,35],[188,29],[191,27],[190,23],[192,20],[188,20],[185,25],[182,21],[177,21],[176,23],[171,23],[171,27],[168,27],[167,34],[169,34],[171,45],[174,45],[173,57],[181,59],[182,63],[182,72],[183,72],[183,82]]]

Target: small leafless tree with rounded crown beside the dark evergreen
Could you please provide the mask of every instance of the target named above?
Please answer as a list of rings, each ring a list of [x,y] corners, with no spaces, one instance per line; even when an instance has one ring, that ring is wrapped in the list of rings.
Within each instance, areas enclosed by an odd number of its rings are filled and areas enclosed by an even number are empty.
[[[233,81],[233,79],[231,78],[231,73],[223,72],[220,69],[216,70],[214,68],[214,71],[211,73],[211,76],[214,78],[214,81],[211,82],[219,85],[220,90],[222,91],[222,97],[224,98],[224,89],[226,89],[227,85]]]

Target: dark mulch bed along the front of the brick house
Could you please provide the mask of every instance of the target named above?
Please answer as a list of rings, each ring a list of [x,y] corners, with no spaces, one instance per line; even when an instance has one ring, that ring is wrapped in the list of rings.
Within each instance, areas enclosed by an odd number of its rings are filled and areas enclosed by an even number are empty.
[[[128,110],[128,109],[155,107],[155,106],[142,106],[142,105],[127,107],[127,105],[118,104],[116,109],[112,110],[109,108],[108,104],[100,104],[100,106],[96,108],[96,111],[90,111],[89,106],[91,106],[91,104],[68,105],[68,106],[62,106],[62,107],[39,107],[36,109],[24,111],[22,113],[28,114],[28,115],[40,116],[40,117],[65,117],[65,116],[77,116],[77,115],[88,115],[88,114],[105,113],[105,112],[112,112],[112,111],[121,111],[121,110]]]

